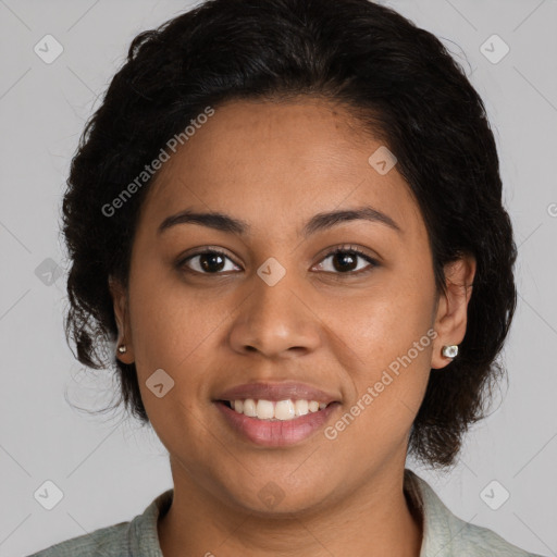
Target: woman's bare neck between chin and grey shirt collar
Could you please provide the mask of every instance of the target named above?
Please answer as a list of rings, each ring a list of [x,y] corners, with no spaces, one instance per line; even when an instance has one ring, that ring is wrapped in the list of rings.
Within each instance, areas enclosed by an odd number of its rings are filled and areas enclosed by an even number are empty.
[[[173,503],[158,523],[164,557],[420,555],[421,517],[405,496],[404,465],[376,472],[343,499],[273,518],[223,504],[183,468],[173,466]]]

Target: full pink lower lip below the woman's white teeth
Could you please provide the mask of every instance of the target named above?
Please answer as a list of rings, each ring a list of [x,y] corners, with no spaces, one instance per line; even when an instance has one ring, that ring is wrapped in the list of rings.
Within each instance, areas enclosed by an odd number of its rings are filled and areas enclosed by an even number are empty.
[[[338,403],[332,403],[323,410],[310,412],[292,420],[270,421],[238,413],[220,400],[215,404],[235,431],[256,445],[265,447],[285,447],[300,443],[322,428],[339,406]]]

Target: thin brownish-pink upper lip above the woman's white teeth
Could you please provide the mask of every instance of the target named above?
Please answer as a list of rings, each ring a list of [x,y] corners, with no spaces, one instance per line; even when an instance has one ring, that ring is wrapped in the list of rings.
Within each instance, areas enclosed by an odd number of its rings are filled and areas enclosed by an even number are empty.
[[[317,400],[318,403],[338,401],[334,395],[325,393],[320,388],[312,387],[305,383],[284,382],[284,383],[244,383],[228,388],[221,393],[218,400],[245,400],[252,398],[255,400]]]

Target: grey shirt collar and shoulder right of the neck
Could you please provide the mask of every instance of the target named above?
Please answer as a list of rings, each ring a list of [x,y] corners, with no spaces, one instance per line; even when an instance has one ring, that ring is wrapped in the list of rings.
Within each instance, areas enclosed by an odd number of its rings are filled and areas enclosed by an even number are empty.
[[[510,544],[493,530],[458,518],[411,470],[405,470],[405,492],[423,520],[420,557],[542,557]]]

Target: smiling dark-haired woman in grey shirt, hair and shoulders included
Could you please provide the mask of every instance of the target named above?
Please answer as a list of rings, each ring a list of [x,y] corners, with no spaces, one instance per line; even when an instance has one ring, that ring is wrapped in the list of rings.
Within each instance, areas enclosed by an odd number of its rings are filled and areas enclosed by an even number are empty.
[[[482,100],[367,0],[136,37],[63,202],[66,329],[168,448],[143,515],[37,556],[527,556],[405,468],[502,374],[516,246]]]

